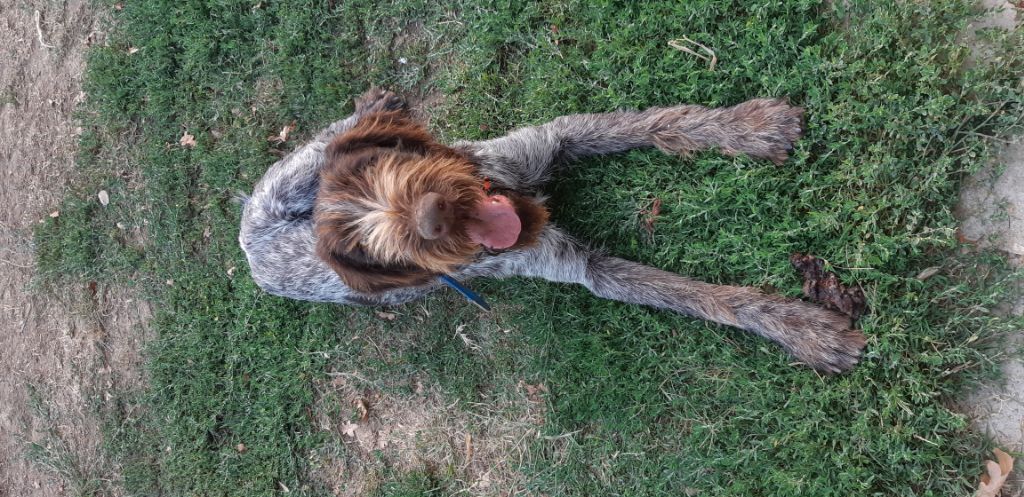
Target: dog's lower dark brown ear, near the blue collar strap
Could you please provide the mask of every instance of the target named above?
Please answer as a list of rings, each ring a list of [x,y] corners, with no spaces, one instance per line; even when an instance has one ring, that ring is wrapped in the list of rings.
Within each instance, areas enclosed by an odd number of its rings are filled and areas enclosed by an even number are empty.
[[[316,255],[349,288],[364,293],[379,293],[423,285],[436,278],[420,267],[378,263],[358,245],[351,246],[342,227],[334,224],[323,220],[317,223]]]

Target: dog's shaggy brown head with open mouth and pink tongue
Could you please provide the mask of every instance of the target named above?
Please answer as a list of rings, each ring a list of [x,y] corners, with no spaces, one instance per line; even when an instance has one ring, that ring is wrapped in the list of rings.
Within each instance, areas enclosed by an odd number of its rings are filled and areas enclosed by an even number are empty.
[[[325,151],[316,253],[354,290],[426,283],[481,250],[535,243],[536,201],[489,195],[476,166],[404,112],[364,117]]]

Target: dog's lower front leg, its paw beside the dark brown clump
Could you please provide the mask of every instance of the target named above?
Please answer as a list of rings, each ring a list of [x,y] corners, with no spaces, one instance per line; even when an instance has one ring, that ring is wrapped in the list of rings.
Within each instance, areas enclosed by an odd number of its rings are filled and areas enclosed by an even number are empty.
[[[537,247],[506,256],[499,273],[579,283],[600,297],[740,328],[775,341],[824,372],[853,367],[865,343],[863,334],[839,313],[756,288],[712,285],[593,252],[554,227],[542,234]]]

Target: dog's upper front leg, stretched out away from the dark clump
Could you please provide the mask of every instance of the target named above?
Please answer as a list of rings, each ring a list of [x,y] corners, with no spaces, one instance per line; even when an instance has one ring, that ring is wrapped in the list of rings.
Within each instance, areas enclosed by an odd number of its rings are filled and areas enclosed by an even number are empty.
[[[562,162],[642,147],[680,155],[718,148],[728,155],[749,154],[781,163],[803,131],[802,116],[803,109],[774,98],[720,109],[676,106],[579,114],[455,147],[504,187],[534,190],[547,182]]]

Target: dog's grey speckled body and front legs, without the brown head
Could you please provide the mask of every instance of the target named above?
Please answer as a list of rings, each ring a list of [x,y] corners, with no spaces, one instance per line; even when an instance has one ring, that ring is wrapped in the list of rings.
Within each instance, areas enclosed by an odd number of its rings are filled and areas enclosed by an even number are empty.
[[[356,113],[270,167],[245,203],[239,241],[256,283],[290,298],[344,304],[399,304],[437,288],[431,284],[379,294],[355,292],[315,255],[311,214],[324,165],[324,149],[359,116],[400,106],[392,93],[371,90]],[[540,189],[572,159],[657,147],[667,153],[718,148],[785,160],[801,134],[802,110],[777,99],[754,99],[725,109],[679,106],[642,112],[565,116],[507,136],[455,148],[500,188],[527,194]],[[843,315],[801,300],[746,287],[719,286],[644,266],[589,249],[553,224],[528,249],[481,254],[456,279],[511,276],[586,286],[594,294],[666,308],[741,328],[779,343],[800,361],[825,372],[856,364],[864,337]]]

